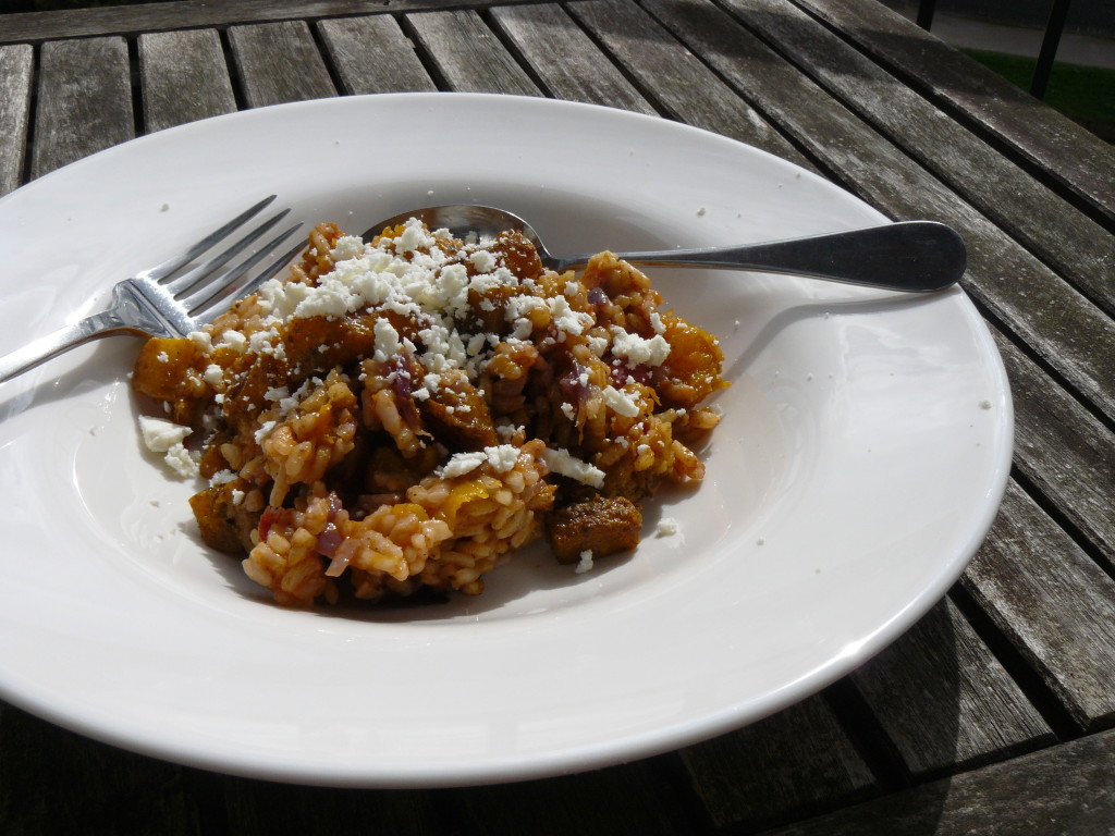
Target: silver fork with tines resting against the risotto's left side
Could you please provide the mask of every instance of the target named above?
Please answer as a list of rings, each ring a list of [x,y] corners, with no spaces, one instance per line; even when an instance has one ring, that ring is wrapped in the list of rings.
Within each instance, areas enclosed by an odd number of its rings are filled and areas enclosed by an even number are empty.
[[[107,310],[40,337],[0,358],[0,383],[64,351],[100,337],[117,333],[140,337],[185,337],[212,321],[234,301],[256,290],[282,270],[302,249],[303,244],[299,243],[271,261],[261,272],[249,278],[252,270],[302,224],[294,224],[263,244],[242,263],[225,270],[225,264],[243,253],[290,212],[283,210],[204,263],[185,272],[180,273],[180,271],[224,241],[233,231],[262,212],[274,198],[274,195],[265,197],[185,252],[119,282],[113,288],[113,299]]]

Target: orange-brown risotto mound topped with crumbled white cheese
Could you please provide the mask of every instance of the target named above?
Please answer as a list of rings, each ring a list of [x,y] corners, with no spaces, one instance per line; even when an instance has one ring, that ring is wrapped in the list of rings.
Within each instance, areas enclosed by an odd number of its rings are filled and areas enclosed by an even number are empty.
[[[285,279],[148,340],[133,381],[166,416],[148,444],[209,482],[205,543],[308,606],[476,594],[539,537],[578,571],[633,548],[640,503],[704,476],[721,362],[611,253],[558,274],[516,232],[411,220],[370,244],[319,225]]]

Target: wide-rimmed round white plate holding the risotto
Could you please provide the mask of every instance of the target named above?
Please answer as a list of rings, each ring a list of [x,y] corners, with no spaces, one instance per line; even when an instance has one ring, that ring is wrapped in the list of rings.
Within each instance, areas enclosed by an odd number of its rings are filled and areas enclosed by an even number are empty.
[[[0,201],[0,352],[277,193],[353,233],[481,202],[555,252],[711,245],[884,218],[667,120],[475,95],[250,110],[112,148]],[[529,551],[418,610],[277,607],[200,545],[140,449],[115,338],[0,387],[0,693],[172,760],[316,784],[513,780],[628,760],[782,709],[878,652],[957,579],[998,506],[1006,378],[959,290],[933,298],[660,270],[734,386],[695,493],[630,557]],[[660,516],[680,534],[656,537]],[[261,594],[262,593],[262,594]]]

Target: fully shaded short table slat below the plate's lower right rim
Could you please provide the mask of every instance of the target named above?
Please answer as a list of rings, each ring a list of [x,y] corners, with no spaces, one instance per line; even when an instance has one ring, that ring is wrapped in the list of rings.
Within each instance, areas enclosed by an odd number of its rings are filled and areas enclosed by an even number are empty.
[[[681,758],[718,828],[753,833],[878,791],[871,769],[821,697],[682,749]]]

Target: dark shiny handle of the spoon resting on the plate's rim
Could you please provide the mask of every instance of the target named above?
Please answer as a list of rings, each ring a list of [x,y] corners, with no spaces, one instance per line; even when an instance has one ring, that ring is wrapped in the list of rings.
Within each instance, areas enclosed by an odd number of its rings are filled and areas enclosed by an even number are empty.
[[[864,230],[770,241],[745,246],[617,253],[638,266],[691,266],[792,273],[925,293],[954,284],[967,263],[964,242],[933,221],[906,221]],[[555,259],[559,272],[588,262],[588,255]]]

